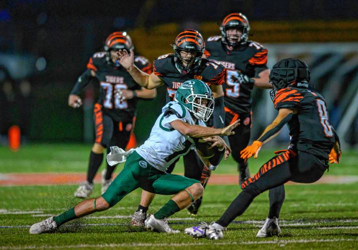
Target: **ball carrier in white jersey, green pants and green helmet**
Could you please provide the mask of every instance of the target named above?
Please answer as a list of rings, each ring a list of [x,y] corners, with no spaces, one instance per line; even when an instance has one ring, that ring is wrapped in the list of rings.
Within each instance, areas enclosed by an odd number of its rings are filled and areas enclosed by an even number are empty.
[[[128,154],[123,170],[100,197],[82,201],[58,216],[49,217],[30,228],[30,233],[48,232],[75,218],[106,210],[124,196],[141,187],[148,192],[174,194],[155,214],[145,220],[145,226],[159,232],[177,233],[170,228],[167,217],[187,207],[199,198],[204,188],[200,181],[166,172],[178,157],[195,146],[193,137],[209,138],[217,150],[209,163],[218,165],[228,150],[218,135],[232,134],[238,121],[224,128],[206,127],[213,112],[214,98],[208,85],[201,80],[183,82],[176,92],[176,100],[167,103],[157,118],[149,138],[134,151],[124,152],[118,147],[107,155],[111,164],[121,162]],[[213,145],[214,145],[213,144]]]

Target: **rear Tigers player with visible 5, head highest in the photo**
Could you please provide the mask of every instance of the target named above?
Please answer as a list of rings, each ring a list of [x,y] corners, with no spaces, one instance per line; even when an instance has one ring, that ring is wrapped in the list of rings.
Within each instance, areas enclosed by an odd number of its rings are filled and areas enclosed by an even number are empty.
[[[259,43],[248,40],[249,22],[242,13],[227,15],[221,25],[221,36],[206,40],[204,54],[208,59],[218,61],[226,68],[223,84],[226,124],[241,119],[235,134],[229,136],[232,156],[238,162],[239,183],[250,177],[246,160],[240,151],[250,140],[251,92],[254,86],[271,88],[266,66],[267,49]]]

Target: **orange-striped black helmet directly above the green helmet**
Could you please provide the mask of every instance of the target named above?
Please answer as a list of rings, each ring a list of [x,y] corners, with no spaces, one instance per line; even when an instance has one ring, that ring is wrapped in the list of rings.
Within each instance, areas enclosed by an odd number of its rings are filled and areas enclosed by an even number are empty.
[[[185,29],[179,33],[173,43],[174,48],[174,60],[176,67],[183,71],[190,72],[194,68],[200,65],[201,57],[204,53],[204,38],[195,29]],[[189,66],[183,65],[183,58],[180,55],[180,51],[196,52],[193,63]]]

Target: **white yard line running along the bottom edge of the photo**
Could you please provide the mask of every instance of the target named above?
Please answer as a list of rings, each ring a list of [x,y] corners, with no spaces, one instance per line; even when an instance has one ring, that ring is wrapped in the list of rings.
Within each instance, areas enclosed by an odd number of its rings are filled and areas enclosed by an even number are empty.
[[[23,245],[23,246],[1,246],[0,249],[35,249],[35,248],[110,248],[110,247],[138,247],[138,246],[199,246],[199,245],[255,245],[255,244],[278,244],[284,246],[290,243],[316,243],[316,242],[341,242],[341,241],[358,241],[358,238],[337,238],[337,239],[289,239],[289,240],[256,240],[256,241],[197,241],[195,243],[112,243],[112,244],[77,244],[77,245]]]

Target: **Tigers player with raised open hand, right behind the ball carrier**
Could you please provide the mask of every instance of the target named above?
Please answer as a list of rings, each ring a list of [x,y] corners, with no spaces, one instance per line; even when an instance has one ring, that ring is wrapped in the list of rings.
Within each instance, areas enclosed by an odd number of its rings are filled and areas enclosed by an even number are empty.
[[[185,29],[180,32],[174,40],[173,48],[174,53],[161,55],[154,60],[153,73],[149,75],[133,64],[133,52],[128,54],[127,51],[120,50],[118,60],[141,86],[152,89],[165,84],[167,101],[173,100],[176,89],[182,82],[192,78],[203,80],[210,86],[215,98],[213,125],[217,128],[224,127],[225,112],[221,86],[225,79],[224,67],[215,61],[202,58],[205,50],[204,39],[197,30]],[[183,160],[184,175],[188,178],[200,180],[202,169],[209,171],[193,150],[186,154]],[[167,172],[173,170],[175,163]],[[201,183],[205,186],[205,177]],[[154,194],[142,192],[141,203],[132,218],[133,225],[144,226],[145,213],[153,197]],[[196,212],[197,210],[194,211]]]

